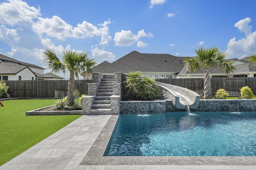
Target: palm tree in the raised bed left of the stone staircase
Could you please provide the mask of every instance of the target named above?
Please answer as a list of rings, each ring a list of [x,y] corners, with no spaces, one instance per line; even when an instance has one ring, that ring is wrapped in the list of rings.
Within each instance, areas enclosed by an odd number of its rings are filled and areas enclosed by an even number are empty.
[[[54,50],[47,48],[44,51],[44,62],[50,69],[51,73],[66,73],[70,72],[68,81],[68,96],[67,105],[73,105],[74,91],[75,91],[75,76],[78,78],[79,73],[92,73],[92,67],[96,65],[96,60],[90,59],[89,53],[87,52],[76,52],[70,50],[64,50],[62,53],[62,61],[57,57]]]

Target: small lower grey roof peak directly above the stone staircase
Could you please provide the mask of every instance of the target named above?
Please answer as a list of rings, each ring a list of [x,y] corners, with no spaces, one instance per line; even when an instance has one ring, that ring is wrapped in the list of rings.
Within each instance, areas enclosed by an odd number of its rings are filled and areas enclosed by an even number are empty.
[[[103,63],[100,63],[99,65],[96,65],[92,68],[94,73],[115,73],[115,72],[122,72],[122,73],[128,73],[124,69],[121,69],[120,67],[117,67],[114,64],[109,63],[108,61],[104,61]]]

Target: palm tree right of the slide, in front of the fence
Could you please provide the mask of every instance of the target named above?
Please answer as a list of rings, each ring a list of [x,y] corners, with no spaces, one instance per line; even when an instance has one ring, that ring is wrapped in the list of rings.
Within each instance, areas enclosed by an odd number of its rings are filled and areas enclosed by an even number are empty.
[[[226,74],[234,73],[236,67],[232,65],[235,61],[225,61],[226,53],[217,47],[196,49],[196,57],[189,57],[184,60],[188,71],[204,70],[204,99],[211,99],[212,88],[209,70],[219,67]]]

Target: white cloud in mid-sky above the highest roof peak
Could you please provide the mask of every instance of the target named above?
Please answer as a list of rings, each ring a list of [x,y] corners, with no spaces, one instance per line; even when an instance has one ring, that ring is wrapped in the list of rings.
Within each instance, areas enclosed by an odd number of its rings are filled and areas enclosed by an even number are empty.
[[[132,34],[132,32],[121,30],[121,32],[116,32],[115,33],[115,38],[114,42],[116,45],[120,46],[130,46],[136,42],[138,42],[139,38],[141,37],[147,37],[147,36],[152,36],[151,33],[148,33],[148,35],[144,32],[144,30],[138,31],[138,34]]]

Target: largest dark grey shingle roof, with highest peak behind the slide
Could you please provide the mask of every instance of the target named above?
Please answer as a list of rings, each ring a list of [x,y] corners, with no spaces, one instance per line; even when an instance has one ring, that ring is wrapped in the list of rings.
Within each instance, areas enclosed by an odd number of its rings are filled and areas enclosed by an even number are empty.
[[[126,71],[142,72],[180,72],[181,61],[187,57],[176,57],[170,54],[139,53],[132,51],[112,64]]]

